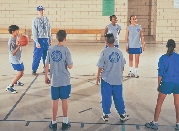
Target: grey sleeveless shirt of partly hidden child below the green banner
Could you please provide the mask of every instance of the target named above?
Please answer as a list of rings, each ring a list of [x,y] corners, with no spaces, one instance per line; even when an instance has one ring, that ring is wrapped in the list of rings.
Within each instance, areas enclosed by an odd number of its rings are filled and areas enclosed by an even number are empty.
[[[112,33],[114,35],[114,39],[115,39],[114,46],[118,48],[119,47],[119,32],[121,30],[121,26],[119,26],[118,24],[115,24],[115,25],[109,24],[107,25],[107,28],[108,28],[107,34]]]

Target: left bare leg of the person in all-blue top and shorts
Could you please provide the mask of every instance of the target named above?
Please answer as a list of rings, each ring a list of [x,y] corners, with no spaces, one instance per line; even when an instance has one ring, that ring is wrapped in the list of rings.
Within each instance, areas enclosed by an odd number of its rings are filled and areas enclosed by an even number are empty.
[[[161,107],[162,107],[162,104],[163,104],[165,97],[166,97],[166,94],[163,94],[161,92],[158,93],[157,105],[156,105],[155,114],[154,114],[154,121],[155,122],[158,121],[158,117],[159,117],[159,114],[161,112]]]

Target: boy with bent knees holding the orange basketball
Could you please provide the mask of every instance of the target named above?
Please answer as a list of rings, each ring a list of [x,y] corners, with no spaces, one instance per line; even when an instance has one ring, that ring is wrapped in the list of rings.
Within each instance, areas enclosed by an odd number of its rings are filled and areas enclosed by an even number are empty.
[[[14,89],[14,85],[23,86],[24,84],[19,81],[19,79],[24,74],[24,64],[21,61],[22,47],[18,43],[19,27],[17,25],[11,25],[8,29],[9,33],[12,34],[9,41],[9,61],[18,73],[15,78],[12,80],[11,84],[6,87],[6,91],[11,93],[17,93],[17,90]]]

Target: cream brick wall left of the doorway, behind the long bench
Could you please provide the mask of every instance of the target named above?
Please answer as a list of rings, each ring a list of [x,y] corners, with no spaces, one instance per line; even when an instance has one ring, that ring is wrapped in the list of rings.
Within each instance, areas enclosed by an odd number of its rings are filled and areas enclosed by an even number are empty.
[[[115,14],[122,26],[121,40],[127,26],[127,4],[127,0],[115,0]],[[108,16],[102,16],[102,0],[0,0],[0,28],[17,24],[30,29],[38,5],[45,7],[52,28],[104,29],[110,23]],[[95,40],[95,35],[69,34],[68,39]]]

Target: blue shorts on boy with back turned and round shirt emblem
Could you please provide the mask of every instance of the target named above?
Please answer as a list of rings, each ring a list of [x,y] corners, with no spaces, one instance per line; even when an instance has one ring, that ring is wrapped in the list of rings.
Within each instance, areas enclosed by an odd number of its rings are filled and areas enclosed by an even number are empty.
[[[71,85],[61,86],[61,87],[53,87],[51,86],[51,97],[52,100],[57,99],[67,99],[70,97],[71,93]]]

